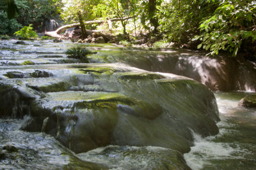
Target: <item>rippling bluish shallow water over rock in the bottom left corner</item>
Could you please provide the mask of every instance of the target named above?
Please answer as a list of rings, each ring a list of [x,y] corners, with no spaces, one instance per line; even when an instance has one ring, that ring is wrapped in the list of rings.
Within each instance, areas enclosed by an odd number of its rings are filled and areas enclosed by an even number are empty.
[[[22,120],[0,120],[1,169],[107,169],[78,159],[53,137],[20,131]]]

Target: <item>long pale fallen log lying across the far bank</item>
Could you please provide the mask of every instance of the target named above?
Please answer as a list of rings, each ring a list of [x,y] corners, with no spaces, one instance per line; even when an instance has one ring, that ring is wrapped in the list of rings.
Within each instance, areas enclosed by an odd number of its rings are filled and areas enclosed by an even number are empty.
[[[109,21],[113,22],[113,21],[118,21],[118,20],[129,20],[131,18],[133,18],[133,17],[113,18],[113,19],[109,19]],[[107,21],[106,20],[89,20],[89,21],[84,22],[84,25],[102,24],[103,22],[107,22]],[[80,25],[79,23],[63,25],[62,27],[58,28],[56,31],[45,32],[45,35],[51,36],[54,38],[61,38],[62,37],[62,36],[60,36],[61,32],[65,31],[66,29],[77,27],[79,25]]]

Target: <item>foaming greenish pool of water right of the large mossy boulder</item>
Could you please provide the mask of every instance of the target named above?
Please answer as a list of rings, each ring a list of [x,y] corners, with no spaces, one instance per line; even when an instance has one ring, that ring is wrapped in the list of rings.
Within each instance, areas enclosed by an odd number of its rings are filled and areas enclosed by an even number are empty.
[[[216,92],[221,121],[220,133],[202,138],[195,134],[195,146],[184,154],[191,169],[255,169],[256,110],[237,103],[245,92]]]

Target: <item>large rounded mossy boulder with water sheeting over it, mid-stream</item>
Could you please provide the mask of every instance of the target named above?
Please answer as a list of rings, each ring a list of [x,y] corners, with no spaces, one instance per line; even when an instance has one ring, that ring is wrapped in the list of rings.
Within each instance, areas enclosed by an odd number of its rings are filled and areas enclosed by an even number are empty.
[[[0,80],[5,96],[15,94],[5,102],[10,109],[0,108],[5,116],[13,106],[16,115],[23,110],[18,115],[28,115],[22,125],[26,131],[41,131],[49,117],[45,132],[76,153],[106,145],[161,146],[184,153],[192,145],[191,129],[202,136],[218,132],[214,96],[197,81],[116,64],[51,65],[44,71],[53,67],[68,75]]]

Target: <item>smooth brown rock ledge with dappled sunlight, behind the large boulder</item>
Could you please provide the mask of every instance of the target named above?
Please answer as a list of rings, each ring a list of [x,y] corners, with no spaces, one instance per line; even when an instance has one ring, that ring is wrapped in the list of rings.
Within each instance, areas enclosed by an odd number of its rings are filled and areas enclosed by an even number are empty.
[[[255,62],[244,57],[209,57],[175,48],[126,47],[97,52],[93,55],[95,62],[122,62],[147,71],[178,74],[200,81],[211,90],[256,91]]]

